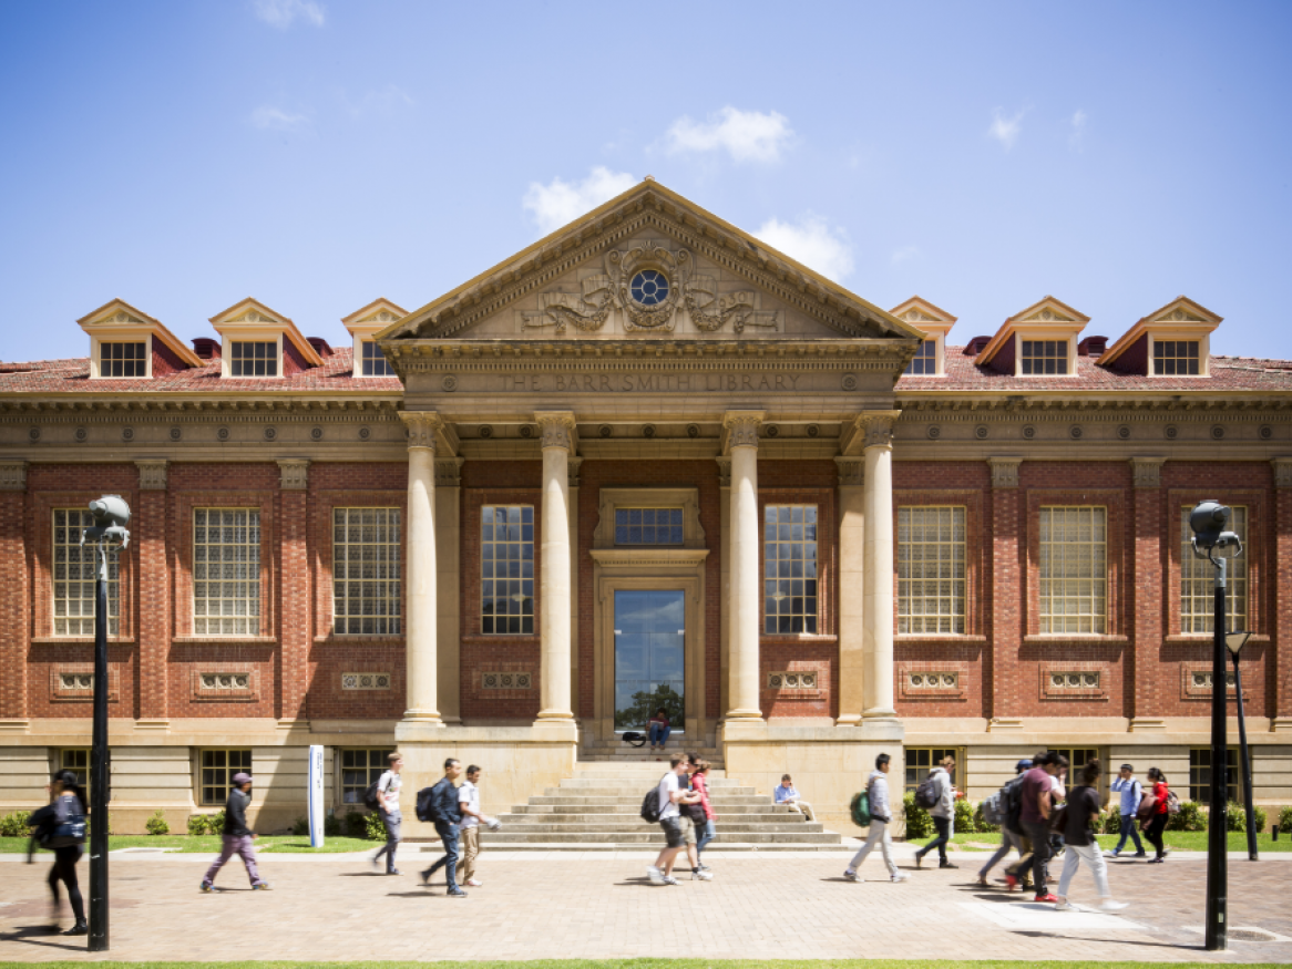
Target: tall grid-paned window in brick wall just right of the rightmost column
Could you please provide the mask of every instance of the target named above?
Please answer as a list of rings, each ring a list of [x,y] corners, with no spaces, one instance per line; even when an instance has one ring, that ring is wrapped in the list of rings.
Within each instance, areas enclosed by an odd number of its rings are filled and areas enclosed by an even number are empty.
[[[964,508],[898,509],[897,590],[898,633],[964,633]]]

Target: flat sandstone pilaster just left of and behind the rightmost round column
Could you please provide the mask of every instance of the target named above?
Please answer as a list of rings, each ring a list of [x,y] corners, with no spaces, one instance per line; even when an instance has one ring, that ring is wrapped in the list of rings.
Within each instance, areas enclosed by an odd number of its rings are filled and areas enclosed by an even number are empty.
[[[866,703],[866,481],[862,457],[839,465],[839,720],[855,725]]]

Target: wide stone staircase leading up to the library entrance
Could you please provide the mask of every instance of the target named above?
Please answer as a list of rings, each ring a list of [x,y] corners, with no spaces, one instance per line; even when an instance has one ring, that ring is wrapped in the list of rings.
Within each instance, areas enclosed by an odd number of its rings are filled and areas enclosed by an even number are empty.
[[[482,832],[481,840],[508,851],[662,848],[659,826],[647,824],[638,813],[646,791],[668,770],[668,760],[667,755],[663,761],[655,760],[662,755],[637,758],[641,753],[579,761],[574,776],[500,814],[503,829]],[[705,850],[801,851],[841,844],[837,833],[774,804],[770,795],[755,793],[724,770],[709,771],[709,796],[718,814],[718,837]]]

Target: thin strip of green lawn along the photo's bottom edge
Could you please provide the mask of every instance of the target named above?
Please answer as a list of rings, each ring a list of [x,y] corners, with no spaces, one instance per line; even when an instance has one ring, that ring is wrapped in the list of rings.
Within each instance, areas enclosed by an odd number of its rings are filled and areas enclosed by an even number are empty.
[[[53,969],[80,969],[81,963],[41,963]],[[425,963],[96,963],[103,969],[425,969]],[[1214,963],[1172,963],[1202,969]],[[1279,963],[1247,963],[1248,969],[1274,969]],[[435,969],[1142,969],[1143,963],[1009,963],[939,959],[541,959],[530,963],[434,963]]]

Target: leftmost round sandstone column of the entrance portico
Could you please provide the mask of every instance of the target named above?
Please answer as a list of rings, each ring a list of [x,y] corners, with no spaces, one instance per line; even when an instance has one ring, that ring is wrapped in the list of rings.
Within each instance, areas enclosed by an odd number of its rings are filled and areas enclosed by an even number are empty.
[[[401,411],[408,428],[408,625],[404,721],[443,726],[439,718],[435,656],[435,433],[433,411]]]

